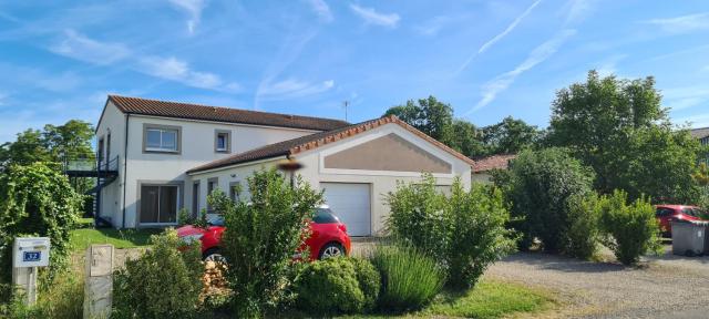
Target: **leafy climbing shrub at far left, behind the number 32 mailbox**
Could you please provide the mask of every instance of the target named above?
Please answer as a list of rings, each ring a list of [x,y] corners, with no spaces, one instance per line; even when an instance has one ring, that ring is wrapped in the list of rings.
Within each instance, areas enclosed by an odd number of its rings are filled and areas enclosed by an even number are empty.
[[[12,245],[19,236],[49,237],[51,281],[68,265],[70,230],[81,215],[83,196],[48,163],[12,165],[0,173],[0,284],[10,282]]]

